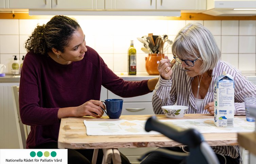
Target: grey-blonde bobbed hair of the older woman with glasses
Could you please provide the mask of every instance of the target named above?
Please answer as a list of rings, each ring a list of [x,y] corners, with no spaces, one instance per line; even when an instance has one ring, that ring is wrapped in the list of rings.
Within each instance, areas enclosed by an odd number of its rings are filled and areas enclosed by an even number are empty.
[[[200,23],[189,23],[177,34],[172,54],[180,59],[199,59],[201,73],[212,70],[220,60],[221,52],[212,33]]]

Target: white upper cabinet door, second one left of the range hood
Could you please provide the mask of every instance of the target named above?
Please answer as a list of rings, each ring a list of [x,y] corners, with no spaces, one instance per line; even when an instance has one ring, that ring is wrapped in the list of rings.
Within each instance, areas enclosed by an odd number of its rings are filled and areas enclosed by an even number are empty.
[[[156,0],[105,0],[105,9],[155,10]]]

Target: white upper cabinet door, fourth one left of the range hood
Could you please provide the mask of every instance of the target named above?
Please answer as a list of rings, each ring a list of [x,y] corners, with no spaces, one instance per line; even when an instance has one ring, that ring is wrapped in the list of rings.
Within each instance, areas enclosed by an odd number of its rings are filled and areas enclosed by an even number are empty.
[[[51,0],[9,0],[9,8],[51,8]]]

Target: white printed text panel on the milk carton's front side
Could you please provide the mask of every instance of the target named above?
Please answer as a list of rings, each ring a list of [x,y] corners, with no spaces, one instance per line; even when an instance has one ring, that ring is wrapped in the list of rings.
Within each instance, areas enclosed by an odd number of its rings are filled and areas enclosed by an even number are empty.
[[[231,106],[234,103],[233,82],[219,83],[219,107]]]

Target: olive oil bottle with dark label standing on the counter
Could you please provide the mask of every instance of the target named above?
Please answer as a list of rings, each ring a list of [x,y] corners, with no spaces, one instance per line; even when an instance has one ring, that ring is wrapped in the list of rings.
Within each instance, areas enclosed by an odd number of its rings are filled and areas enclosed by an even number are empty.
[[[128,74],[136,75],[136,49],[133,47],[133,40],[128,49]]]

